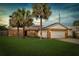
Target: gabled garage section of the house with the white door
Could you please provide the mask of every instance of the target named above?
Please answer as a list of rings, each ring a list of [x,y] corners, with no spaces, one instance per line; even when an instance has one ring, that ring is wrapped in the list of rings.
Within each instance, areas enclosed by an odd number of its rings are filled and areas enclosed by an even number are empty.
[[[40,36],[40,31],[38,36]],[[42,37],[44,38],[68,38],[70,36],[72,36],[72,29],[60,23],[51,24],[42,31]]]

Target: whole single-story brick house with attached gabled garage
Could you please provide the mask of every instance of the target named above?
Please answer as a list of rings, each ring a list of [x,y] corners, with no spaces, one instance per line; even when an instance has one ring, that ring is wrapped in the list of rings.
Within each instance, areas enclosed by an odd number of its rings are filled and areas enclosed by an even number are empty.
[[[16,36],[17,34],[16,29],[9,30],[9,36]],[[20,29],[20,35],[23,35],[22,28]],[[40,37],[40,26],[31,26],[25,28],[25,36],[37,36]],[[43,38],[68,38],[72,36],[72,29],[66,27],[60,23],[54,23],[49,26],[42,28],[42,37]]]

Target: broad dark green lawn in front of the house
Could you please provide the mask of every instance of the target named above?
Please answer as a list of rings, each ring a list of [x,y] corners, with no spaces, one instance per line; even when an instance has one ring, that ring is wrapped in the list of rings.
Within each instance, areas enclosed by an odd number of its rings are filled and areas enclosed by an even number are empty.
[[[0,37],[3,56],[72,56],[79,55],[79,45],[39,38]]]

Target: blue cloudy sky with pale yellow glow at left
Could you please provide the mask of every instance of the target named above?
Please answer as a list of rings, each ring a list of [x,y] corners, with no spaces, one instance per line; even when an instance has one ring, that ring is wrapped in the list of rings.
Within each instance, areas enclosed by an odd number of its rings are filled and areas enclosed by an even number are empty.
[[[47,26],[59,21],[64,25],[71,26],[75,20],[79,20],[79,4],[77,3],[50,3],[52,14],[48,20],[43,19],[43,25]],[[0,25],[9,26],[9,16],[18,8],[26,8],[32,11],[31,3],[0,3]],[[40,24],[40,20],[34,18],[35,25]]]

